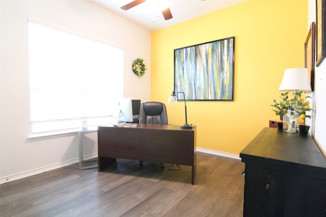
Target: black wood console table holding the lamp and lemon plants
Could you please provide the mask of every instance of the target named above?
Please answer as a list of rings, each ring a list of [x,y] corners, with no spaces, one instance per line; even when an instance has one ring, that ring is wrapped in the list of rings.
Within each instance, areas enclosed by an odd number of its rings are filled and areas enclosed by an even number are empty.
[[[310,135],[264,128],[240,157],[243,216],[326,216],[326,160]]]

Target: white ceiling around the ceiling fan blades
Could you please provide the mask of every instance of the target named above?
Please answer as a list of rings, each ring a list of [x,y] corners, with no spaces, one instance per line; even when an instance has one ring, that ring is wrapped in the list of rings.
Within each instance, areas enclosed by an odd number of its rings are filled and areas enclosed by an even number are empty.
[[[170,1],[173,18],[165,20],[158,8],[158,0],[147,0],[127,11],[120,9],[133,0],[89,0],[107,10],[137,23],[149,31],[165,28],[248,0],[163,0]]]

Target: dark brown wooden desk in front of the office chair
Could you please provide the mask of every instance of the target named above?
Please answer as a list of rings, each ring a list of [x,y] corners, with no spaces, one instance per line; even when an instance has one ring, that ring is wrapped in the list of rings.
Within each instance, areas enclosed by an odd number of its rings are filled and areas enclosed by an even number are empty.
[[[98,171],[116,158],[144,160],[192,167],[196,174],[196,128],[138,124],[137,127],[98,127]]]

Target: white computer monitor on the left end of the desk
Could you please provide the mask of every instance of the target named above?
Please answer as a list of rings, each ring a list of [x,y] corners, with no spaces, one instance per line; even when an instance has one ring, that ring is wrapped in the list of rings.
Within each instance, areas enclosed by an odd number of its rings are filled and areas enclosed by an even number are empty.
[[[114,125],[117,126],[118,123],[131,123],[133,121],[131,98],[114,99],[113,106]]]

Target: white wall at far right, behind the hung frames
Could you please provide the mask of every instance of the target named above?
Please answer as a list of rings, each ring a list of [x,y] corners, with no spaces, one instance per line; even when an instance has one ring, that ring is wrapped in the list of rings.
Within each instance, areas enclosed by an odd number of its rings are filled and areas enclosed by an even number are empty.
[[[316,1],[308,1],[308,29],[310,24],[316,21]],[[322,62],[319,67],[315,67],[315,90],[312,93],[313,107],[316,113],[313,120],[308,123],[313,126],[314,139],[321,147],[323,153],[326,155],[326,135],[325,135],[325,123],[326,123],[326,60]],[[312,123],[314,122],[314,124]]]

